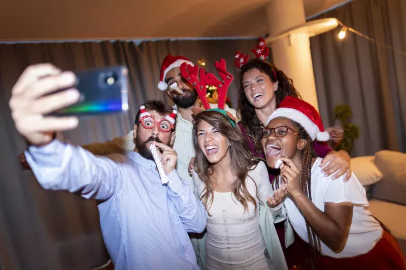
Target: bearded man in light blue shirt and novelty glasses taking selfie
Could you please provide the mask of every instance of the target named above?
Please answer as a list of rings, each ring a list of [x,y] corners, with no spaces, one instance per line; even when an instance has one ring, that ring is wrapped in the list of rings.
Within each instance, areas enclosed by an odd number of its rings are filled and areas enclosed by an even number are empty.
[[[12,90],[13,119],[29,143],[25,156],[39,183],[102,201],[100,225],[115,269],[198,269],[187,233],[205,229],[207,212],[175,169],[173,109],[161,101],[145,103],[134,123],[138,152],[96,157],[54,140],[55,132],[76,128],[77,117],[47,116],[80,100],[71,88],[75,83],[72,72],[39,64],[28,67]],[[167,184],[156,170],[151,143],[162,150]]]

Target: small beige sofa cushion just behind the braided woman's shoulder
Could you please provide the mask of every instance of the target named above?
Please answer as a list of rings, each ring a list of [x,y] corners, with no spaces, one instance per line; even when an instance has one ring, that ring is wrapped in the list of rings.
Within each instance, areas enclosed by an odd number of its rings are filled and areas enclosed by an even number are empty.
[[[363,186],[375,184],[383,175],[374,163],[374,156],[351,159],[351,170]]]

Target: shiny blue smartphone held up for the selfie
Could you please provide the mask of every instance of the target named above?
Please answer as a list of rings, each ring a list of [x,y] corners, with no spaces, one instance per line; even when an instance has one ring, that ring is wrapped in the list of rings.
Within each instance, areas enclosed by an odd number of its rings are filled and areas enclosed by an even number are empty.
[[[128,110],[128,69],[125,66],[104,67],[75,72],[80,99],[76,104],[52,113],[92,115],[120,113]]]

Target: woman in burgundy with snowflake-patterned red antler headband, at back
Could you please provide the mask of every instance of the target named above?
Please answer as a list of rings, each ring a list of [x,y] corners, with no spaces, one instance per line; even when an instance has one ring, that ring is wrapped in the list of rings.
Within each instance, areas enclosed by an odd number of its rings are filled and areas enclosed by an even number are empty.
[[[241,68],[239,97],[241,122],[239,122],[239,127],[243,131],[253,155],[264,158],[261,133],[267,118],[285,97],[300,98],[300,95],[294,88],[292,80],[282,70],[265,62],[269,55],[269,49],[265,46],[263,38],[251,51],[257,59],[248,61],[248,55],[240,52],[235,53],[235,65]],[[341,128],[333,127],[326,129],[326,131],[334,141],[339,141],[343,137]],[[324,158],[320,166],[325,166],[323,170],[327,175],[335,173],[333,176],[335,179],[347,173],[346,180],[349,179],[351,176],[351,158],[347,152],[333,151],[326,143],[316,141],[314,146],[316,153]],[[330,163],[326,165],[328,162]],[[274,171],[269,171],[270,181],[274,179],[274,174]],[[308,256],[308,249],[299,237],[294,237],[295,241],[286,249],[288,244],[285,243],[285,239],[289,236],[285,236],[285,228],[282,223],[276,224],[276,227],[289,267]],[[290,236],[290,238],[292,237]]]

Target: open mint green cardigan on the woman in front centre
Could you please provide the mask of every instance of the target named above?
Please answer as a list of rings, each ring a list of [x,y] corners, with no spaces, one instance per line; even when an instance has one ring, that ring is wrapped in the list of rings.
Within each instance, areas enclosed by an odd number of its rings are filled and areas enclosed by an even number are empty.
[[[196,192],[196,197],[198,198]],[[269,269],[288,270],[285,256],[283,254],[281,242],[276,232],[275,223],[284,221],[285,223],[285,245],[289,247],[294,240],[293,229],[289,223],[285,206],[278,211],[272,211],[267,204],[259,205],[259,226],[261,227],[263,239],[268,257]],[[206,269],[206,232],[202,234],[192,234],[191,241],[196,253],[197,263],[202,270]]]

